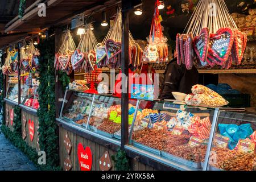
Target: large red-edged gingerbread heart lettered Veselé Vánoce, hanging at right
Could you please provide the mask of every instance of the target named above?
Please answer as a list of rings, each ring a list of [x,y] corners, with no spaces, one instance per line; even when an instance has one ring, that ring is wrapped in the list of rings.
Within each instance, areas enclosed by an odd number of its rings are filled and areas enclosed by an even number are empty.
[[[234,34],[231,28],[220,28],[216,34],[210,34],[209,52],[220,60],[223,65],[230,55],[234,43]],[[218,64],[218,61],[216,61]]]

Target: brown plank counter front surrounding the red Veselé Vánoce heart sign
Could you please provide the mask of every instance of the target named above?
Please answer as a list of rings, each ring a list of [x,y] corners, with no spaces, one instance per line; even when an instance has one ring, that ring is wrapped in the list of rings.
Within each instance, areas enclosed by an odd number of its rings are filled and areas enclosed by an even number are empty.
[[[72,143],[72,149],[71,149],[71,163],[72,163],[72,171],[80,171],[79,167],[79,161],[77,158],[77,145],[79,143],[82,143],[84,148],[86,146],[90,147],[92,150],[92,157],[93,157],[93,163],[92,163],[92,171],[99,171],[100,166],[99,166],[99,160],[101,156],[104,154],[105,151],[109,151],[110,159],[112,155],[115,155],[117,152],[110,150],[109,148],[102,146],[98,143],[92,142],[91,140],[88,140],[86,138],[80,137],[77,134],[72,133],[71,131],[68,131],[64,129],[63,127],[59,127],[59,146],[60,146],[60,166],[63,168],[64,167],[64,160],[67,158],[68,154],[65,151],[65,146],[64,146],[64,135],[65,133],[68,133],[69,139]],[[143,171],[143,170],[148,170],[152,171],[154,170],[150,166],[146,166],[145,164],[139,163],[136,160],[131,160],[131,164],[133,167],[134,171]],[[112,171],[114,170],[114,161],[112,160]]]

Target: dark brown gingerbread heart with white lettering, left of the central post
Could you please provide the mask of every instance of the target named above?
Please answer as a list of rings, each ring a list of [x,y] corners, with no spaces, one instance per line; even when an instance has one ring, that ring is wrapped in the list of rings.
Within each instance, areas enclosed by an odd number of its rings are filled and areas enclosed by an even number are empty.
[[[106,56],[108,57],[108,60],[112,59],[119,53],[121,53],[121,43],[114,42],[114,40],[108,39],[105,43],[106,47]]]

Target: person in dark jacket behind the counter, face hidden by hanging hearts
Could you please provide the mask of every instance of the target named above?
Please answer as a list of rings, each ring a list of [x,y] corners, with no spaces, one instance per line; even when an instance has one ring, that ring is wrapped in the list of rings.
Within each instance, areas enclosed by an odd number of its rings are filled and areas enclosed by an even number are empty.
[[[172,92],[189,94],[192,86],[199,81],[199,73],[194,65],[191,70],[188,70],[184,64],[177,64],[176,51],[174,57],[164,72],[160,100],[173,99]]]

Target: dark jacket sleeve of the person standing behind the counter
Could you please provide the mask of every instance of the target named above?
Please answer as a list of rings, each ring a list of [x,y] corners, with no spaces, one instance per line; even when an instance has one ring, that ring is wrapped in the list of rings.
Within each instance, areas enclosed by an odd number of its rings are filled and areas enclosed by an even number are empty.
[[[164,82],[162,84],[162,90],[160,94],[160,100],[172,99],[171,92],[177,92],[179,90],[180,80],[182,78],[182,72],[179,65],[170,63],[164,73]]]

